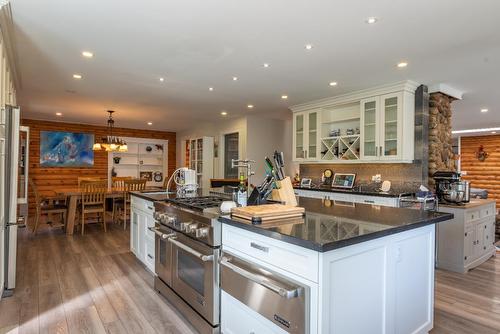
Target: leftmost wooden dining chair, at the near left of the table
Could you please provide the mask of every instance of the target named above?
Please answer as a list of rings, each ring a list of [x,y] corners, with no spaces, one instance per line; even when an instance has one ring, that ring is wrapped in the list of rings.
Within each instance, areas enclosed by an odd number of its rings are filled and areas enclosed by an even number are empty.
[[[54,225],[50,223],[51,227],[65,227],[66,226],[66,217],[68,214],[68,206],[66,204],[66,198],[60,196],[42,196],[38,191],[38,187],[35,182],[33,182],[32,178],[28,178],[28,183],[31,188],[31,191],[35,197],[35,207],[36,207],[36,216],[35,216],[35,224],[33,225],[33,233],[36,234],[38,231],[38,225],[40,224],[40,219],[42,215],[59,214],[61,215],[61,223],[58,225]],[[47,223],[49,223],[47,221]]]

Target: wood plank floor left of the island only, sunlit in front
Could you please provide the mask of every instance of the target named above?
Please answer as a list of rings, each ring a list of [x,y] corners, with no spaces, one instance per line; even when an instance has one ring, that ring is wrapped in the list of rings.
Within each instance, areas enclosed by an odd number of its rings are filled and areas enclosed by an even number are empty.
[[[0,333],[194,333],[153,290],[129,230],[108,226],[72,237],[20,230],[17,288],[0,301]]]

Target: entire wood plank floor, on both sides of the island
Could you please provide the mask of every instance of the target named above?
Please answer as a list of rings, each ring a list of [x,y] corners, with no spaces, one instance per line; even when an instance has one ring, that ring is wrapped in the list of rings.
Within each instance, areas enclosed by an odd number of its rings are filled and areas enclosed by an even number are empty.
[[[3,333],[194,333],[153,290],[129,231],[19,233],[17,289],[0,301]],[[467,274],[436,271],[432,334],[500,333],[500,257]]]

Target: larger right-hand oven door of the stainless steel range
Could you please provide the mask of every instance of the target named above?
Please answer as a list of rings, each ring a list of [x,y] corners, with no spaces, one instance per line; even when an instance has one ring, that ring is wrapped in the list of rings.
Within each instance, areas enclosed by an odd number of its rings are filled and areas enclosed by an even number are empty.
[[[219,250],[182,234],[168,239],[172,245],[172,287],[212,324],[219,322],[220,291],[217,276]]]

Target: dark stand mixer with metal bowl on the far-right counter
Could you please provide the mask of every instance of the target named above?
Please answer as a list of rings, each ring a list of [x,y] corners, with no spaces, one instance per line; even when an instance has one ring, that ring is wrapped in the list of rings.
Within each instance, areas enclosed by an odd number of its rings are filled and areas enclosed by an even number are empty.
[[[441,204],[464,205],[470,201],[470,183],[460,179],[459,172],[437,171],[436,196]]]

